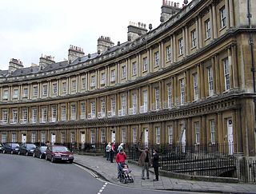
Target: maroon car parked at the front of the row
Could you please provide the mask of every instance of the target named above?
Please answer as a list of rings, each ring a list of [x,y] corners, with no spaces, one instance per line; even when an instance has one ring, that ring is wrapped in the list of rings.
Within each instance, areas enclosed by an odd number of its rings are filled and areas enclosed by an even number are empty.
[[[68,148],[62,145],[50,145],[46,149],[46,160],[54,161],[69,161],[73,163],[74,155]]]

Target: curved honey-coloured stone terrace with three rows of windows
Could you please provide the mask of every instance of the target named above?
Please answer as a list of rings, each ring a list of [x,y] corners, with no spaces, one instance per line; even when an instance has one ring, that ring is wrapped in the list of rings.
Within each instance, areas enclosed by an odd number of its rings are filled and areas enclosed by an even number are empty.
[[[128,42],[86,56],[70,46],[68,61],[12,59],[0,71],[0,140],[135,144],[142,135],[255,156],[256,20],[248,27],[246,2],[194,0]]]

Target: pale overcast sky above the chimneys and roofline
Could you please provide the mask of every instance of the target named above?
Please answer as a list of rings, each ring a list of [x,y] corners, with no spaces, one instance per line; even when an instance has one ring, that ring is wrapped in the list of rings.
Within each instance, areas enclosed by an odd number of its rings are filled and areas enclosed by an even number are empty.
[[[174,0],[180,2],[183,0]],[[41,55],[67,59],[70,45],[97,53],[100,36],[114,45],[127,41],[130,22],[160,25],[162,0],[0,0],[0,69],[10,58],[24,67]]]

